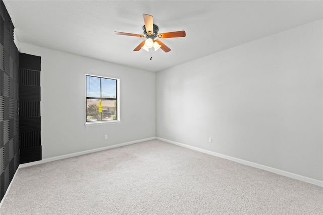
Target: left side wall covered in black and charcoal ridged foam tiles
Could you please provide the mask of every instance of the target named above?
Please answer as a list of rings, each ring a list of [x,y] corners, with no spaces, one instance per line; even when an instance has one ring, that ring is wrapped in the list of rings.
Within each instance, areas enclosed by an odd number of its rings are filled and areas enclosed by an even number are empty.
[[[0,200],[20,164],[19,51],[14,25],[0,0]]]

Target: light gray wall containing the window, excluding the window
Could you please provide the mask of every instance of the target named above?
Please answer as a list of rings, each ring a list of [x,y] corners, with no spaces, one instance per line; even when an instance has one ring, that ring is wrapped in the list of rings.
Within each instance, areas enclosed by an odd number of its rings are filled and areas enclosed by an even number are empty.
[[[19,47],[41,56],[42,159],[155,136],[155,73],[26,43]],[[120,123],[85,126],[85,74],[120,79]]]

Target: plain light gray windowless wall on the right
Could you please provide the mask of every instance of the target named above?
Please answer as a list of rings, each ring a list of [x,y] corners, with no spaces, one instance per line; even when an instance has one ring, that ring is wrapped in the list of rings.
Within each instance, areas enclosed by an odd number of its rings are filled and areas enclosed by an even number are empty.
[[[322,111],[322,20],[156,74],[157,137],[316,180]]]

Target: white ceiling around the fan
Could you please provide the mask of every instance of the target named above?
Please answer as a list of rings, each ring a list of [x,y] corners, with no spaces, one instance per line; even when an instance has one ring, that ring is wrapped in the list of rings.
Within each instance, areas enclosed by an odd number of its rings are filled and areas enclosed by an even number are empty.
[[[160,71],[322,19],[322,1],[8,1],[19,43]],[[153,16],[172,50],[133,51],[143,38],[142,14]]]

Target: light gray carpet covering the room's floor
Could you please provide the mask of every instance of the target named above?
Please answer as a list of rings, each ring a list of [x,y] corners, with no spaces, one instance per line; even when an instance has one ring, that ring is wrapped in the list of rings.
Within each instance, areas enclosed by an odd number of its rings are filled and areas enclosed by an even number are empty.
[[[150,140],[21,168],[0,214],[323,214],[323,188]]]

